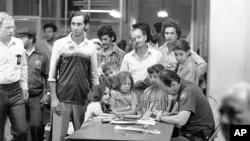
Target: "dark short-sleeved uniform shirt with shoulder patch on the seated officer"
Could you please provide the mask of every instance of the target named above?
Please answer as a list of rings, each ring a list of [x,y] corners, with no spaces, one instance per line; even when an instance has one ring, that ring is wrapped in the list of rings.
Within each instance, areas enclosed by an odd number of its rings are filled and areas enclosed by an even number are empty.
[[[185,133],[195,133],[201,129],[215,129],[211,107],[202,90],[195,84],[181,80],[179,90],[179,111],[189,111],[191,115],[182,126]]]

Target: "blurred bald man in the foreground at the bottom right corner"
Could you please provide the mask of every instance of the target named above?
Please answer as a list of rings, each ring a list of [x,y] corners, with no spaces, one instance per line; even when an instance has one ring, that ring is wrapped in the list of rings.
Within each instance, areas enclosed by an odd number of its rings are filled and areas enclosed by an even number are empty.
[[[220,108],[222,132],[230,140],[230,125],[250,125],[250,84],[234,85],[223,98]]]

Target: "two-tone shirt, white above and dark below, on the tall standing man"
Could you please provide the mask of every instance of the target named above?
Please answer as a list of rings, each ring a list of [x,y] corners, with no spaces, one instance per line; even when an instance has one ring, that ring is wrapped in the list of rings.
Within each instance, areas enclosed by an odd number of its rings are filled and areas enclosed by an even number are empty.
[[[54,43],[49,81],[57,82],[60,101],[84,104],[89,90],[99,84],[96,48],[86,38],[77,45],[71,35]]]

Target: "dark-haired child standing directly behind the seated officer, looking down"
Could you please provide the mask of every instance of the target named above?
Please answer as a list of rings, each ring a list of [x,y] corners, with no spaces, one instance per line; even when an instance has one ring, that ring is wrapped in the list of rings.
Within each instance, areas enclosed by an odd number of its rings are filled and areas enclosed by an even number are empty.
[[[190,47],[188,42],[180,39],[174,43],[174,54],[178,65],[176,73],[185,80],[199,84],[199,72],[192,56],[190,55]]]

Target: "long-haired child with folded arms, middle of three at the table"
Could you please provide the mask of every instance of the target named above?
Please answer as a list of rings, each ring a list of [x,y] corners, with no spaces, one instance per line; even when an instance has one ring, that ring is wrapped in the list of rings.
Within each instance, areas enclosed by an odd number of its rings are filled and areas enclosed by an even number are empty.
[[[116,76],[116,88],[111,92],[110,106],[117,115],[134,115],[138,106],[133,93],[134,81],[129,72],[120,72]]]

